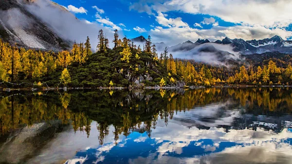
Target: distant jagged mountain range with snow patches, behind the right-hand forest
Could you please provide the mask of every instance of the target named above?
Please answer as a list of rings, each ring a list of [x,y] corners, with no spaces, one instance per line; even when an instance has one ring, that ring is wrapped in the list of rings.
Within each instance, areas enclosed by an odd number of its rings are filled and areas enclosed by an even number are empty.
[[[133,39],[137,42],[144,42],[146,40],[144,36],[139,36]],[[169,52],[178,52],[178,51],[191,51],[198,46],[205,44],[210,49],[210,47],[214,47],[215,43],[219,45],[231,45],[233,47],[234,52],[239,52],[242,55],[251,55],[251,54],[263,54],[266,52],[279,52],[283,54],[291,54],[292,53],[292,40],[284,40],[280,36],[273,36],[271,38],[265,38],[261,40],[243,40],[241,38],[230,39],[225,37],[222,40],[216,40],[214,42],[210,42],[208,39],[198,39],[195,43],[191,41],[186,41],[175,46],[167,46],[164,42],[154,43],[157,47],[157,50],[163,51],[165,47],[167,47]],[[207,46],[208,45],[208,46]],[[211,48],[213,49],[213,48]]]

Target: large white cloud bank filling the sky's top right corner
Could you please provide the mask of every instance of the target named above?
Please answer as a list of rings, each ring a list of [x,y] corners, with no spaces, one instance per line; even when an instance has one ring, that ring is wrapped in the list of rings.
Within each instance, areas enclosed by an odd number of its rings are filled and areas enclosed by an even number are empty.
[[[291,8],[292,0],[168,0],[151,5],[157,13],[206,14],[228,22],[266,27],[286,27],[292,23]]]

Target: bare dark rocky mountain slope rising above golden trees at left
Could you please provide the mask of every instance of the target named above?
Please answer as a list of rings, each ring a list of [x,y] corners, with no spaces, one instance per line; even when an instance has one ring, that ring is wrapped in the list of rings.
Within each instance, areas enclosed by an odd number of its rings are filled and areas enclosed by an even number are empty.
[[[69,49],[71,42],[56,34],[42,20],[28,10],[35,0],[0,0],[0,38],[25,48],[62,50]],[[51,2],[50,7],[66,9]]]

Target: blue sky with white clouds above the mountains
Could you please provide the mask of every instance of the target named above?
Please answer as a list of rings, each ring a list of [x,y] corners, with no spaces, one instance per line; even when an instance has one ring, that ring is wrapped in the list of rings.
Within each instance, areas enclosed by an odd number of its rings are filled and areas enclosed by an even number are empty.
[[[118,28],[128,38],[150,35],[154,42],[168,45],[198,38],[292,36],[292,1],[287,0],[53,1],[81,20]]]

